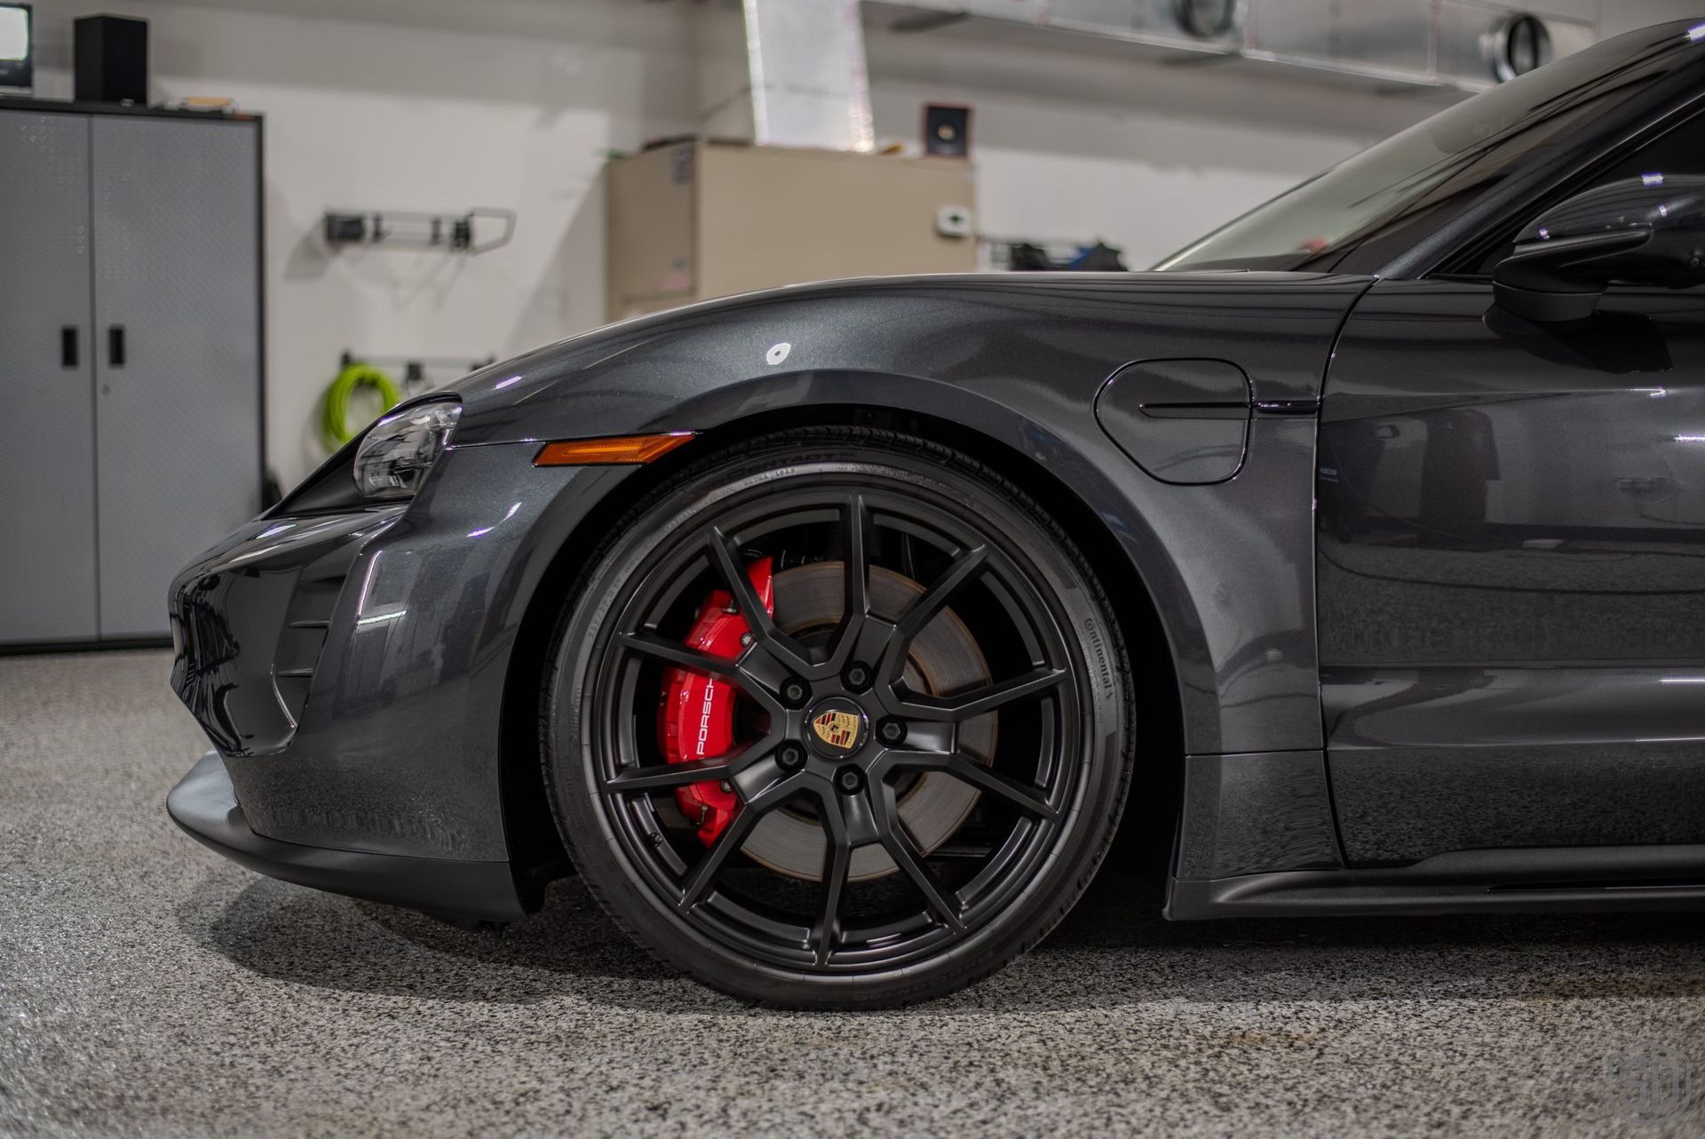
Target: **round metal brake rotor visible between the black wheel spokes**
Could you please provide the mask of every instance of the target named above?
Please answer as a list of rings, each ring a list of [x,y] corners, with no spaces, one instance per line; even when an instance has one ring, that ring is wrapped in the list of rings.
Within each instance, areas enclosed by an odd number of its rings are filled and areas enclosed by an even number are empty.
[[[774,576],[776,624],[800,641],[829,636],[841,621],[846,588],[839,561],[820,561],[784,570]],[[910,609],[924,587],[910,578],[871,566],[871,610],[895,619]],[[953,696],[991,684],[989,662],[965,622],[948,609],[912,638],[904,670],[910,691],[929,696]],[[960,725],[958,747],[979,764],[994,755],[997,713],[977,716]],[[979,791],[941,771],[926,771],[909,786],[900,784],[897,798],[900,822],[924,854],[933,853],[965,822],[977,805]],[[766,815],[740,847],[752,861],[789,878],[822,880],[824,827],[796,810]],[[864,882],[895,873],[899,868],[881,846],[852,851],[847,868],[851,882]]]

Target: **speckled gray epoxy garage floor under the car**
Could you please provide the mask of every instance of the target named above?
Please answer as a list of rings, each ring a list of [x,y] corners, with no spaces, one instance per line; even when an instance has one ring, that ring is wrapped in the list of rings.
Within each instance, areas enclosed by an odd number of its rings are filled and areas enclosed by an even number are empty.
[[[164,653],[0,658],[0,1132],[1698,1136],[1705,916],[1170,926],[1103,875],[924,1008],[752,1011],[573,882],[496,940],[257,878],[162,800],[203,743]]]

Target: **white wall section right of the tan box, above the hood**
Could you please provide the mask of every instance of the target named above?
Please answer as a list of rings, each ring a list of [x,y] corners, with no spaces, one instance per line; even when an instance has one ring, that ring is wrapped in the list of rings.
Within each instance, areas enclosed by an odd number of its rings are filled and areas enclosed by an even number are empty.
[[[1454,101],[950,36],[866,49],[878,140],[916,140],[926,102],[974,107],[984,234],[1105,239],[1130,268]]]

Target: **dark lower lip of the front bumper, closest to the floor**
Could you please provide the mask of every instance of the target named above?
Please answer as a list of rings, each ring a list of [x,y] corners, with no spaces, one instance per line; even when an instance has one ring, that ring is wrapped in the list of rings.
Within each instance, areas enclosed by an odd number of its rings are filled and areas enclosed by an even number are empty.
[[[525,916],[508,861],[338,851],[256,834],[218,752],[177,781],[165,812],[196,842],[273,878],[452,917],[506,922]]]

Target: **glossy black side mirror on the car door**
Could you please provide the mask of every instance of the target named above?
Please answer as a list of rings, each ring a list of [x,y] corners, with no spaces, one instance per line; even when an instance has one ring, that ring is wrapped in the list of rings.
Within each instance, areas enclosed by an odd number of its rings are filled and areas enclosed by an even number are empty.
[[[1705,283],[1705,177],[1630,177],[1546,210],[1492,271],[1492,297],[1528,321],[1584,321],[1611,281]]]

